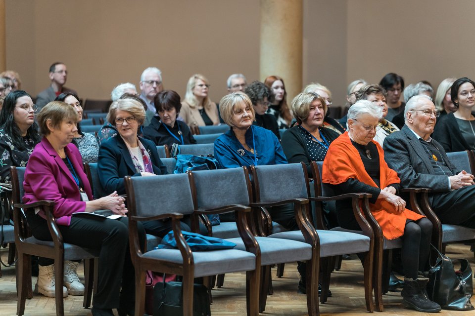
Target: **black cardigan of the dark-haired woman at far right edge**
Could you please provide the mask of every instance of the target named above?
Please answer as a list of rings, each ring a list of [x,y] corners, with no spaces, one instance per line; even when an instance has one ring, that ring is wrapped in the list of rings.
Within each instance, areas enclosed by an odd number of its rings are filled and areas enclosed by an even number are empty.
[[[447,153],[474,149],[462,136],[453,113],[449,113],[439,120],[435,125],[432,138],[438,141]]]

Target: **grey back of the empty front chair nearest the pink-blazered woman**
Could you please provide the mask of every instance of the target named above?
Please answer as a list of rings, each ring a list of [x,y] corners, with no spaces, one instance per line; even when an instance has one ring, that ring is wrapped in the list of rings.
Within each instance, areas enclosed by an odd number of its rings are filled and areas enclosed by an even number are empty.
[[[188,174],[168,174],[150,177],[131,177],[137,216],[156,216],[166,213],[193,213]],[[161,198],[153,198],[159,195]],[[132,198],[130,196],[129,200]]]

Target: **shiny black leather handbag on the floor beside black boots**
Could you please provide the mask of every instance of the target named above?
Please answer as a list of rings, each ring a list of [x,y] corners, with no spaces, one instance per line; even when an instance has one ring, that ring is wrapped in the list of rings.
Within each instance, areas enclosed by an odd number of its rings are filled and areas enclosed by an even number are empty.
[[[433,247],[433,246],[432,246]],[[450,260],[435,247],[438,258],[429,270],[427,296],[445,310],[472,311],[470,303],[473,294],[472,268],[467,259]],[[460,270],[455,271],[454,263]]]

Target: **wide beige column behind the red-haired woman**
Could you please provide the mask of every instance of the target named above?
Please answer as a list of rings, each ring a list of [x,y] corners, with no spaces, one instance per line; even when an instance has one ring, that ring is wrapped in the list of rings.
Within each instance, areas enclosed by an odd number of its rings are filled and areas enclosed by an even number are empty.
[[[260,79],[284,79],[287,104],[302,89],[302,0],[261,0]]]

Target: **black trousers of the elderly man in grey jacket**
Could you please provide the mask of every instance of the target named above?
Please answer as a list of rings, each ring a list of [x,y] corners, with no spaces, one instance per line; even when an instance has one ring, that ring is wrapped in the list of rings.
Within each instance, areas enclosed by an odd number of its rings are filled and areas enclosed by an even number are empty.
[[[475,228],[475,186],[432,194],[432,209],[444,224]]]

